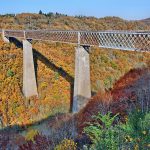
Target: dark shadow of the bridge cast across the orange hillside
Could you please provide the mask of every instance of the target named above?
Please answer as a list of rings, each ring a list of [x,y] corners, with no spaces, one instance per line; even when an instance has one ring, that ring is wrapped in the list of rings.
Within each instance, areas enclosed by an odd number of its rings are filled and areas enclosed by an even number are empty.
[[[20,42],[18,39],[11,37],[9,40],[10,40],[11,43],[14,43],[18,48],[23,48],[22,42]],[[57,72],[67,82],[70,83],[70,112],[71,112],[72,111],[72,103],[73,103],[74,78],[71,75],[69,75],[63,68],[56,66],[53,62],[51,62],[48,58],[46,58],[46,56],[41,54],[36,49],[33,49],[33,58],[34,58],[36,80],[38,80],[37,79],[37,70],[38,70],[37,61],[40,60],[48,68],[50,68],[51,70]]]

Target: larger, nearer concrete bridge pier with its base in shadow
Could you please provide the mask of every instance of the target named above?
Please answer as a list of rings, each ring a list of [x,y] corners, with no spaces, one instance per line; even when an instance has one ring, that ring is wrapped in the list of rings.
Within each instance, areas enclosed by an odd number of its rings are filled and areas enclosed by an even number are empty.
[[[91,98],[89,47],[77,47],[72,112],[79,112]]]

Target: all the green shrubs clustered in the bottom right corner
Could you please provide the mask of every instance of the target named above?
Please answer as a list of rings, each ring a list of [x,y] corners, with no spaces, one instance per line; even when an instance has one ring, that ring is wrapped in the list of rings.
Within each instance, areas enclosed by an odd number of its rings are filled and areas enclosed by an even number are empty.
[[[129,113],[126,123],[113,125],[117,115],[94,116],[95,122],[84,128],[90,137],[90,150],[140,150],[150,148],[150,113],[134,110]]]

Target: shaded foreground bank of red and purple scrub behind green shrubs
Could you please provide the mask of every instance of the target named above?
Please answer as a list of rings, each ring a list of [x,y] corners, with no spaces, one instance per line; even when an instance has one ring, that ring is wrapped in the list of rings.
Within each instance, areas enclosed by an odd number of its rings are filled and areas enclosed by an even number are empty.
[[[12,146],[16,147],[17,143],[20,150],[33,147],[40,150],[48,149],[56,146],[64,137],[74,139],[74,132],[76,134],[76,130],[78,130],[80,134],[75,141],[80,147],[80,144],[88,142],[88,139],[82,135],[83,128],[87,125],[87,122],[93,121],[91,116],[96,115],[99,111],[106,113],[111,108],[113,113],[120,113],[124,120],[128,111],[131,111],[134,107],[140,108],[140,105],[142,105],[143,110],[145,108],[149,109],[149,75],[149,67],[131,69],[114,84],[114,88],[111,91],[106,93],[99,91],[76,116],[59,114],[55,117],[46,118],[33,123],[32,126],[28,126],[26,132],[23,133],[18,133],[18,130],[24,131],[21,127],[18,126],[19,128],[16,130],[17,126],[12,126],[10,131],[6,130],[5,134],[1,133],[3,140],[0,138],[0,144],[5,147],[5,144],[11,141]],[[76,124],[77,129],[75,128]],[[9,140],[7,139],[8,133]]]

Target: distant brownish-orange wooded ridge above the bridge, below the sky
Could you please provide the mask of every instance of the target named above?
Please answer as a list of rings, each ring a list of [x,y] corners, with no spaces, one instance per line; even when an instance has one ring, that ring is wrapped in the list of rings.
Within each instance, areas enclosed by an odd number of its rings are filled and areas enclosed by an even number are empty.
[[[62,29],[62,30],[149,30],[142,21],[127,21],[118,17],[95,18],[67,16],[58,13],[0,16],[0,28],[6,29]]]

